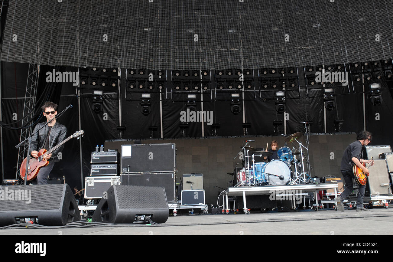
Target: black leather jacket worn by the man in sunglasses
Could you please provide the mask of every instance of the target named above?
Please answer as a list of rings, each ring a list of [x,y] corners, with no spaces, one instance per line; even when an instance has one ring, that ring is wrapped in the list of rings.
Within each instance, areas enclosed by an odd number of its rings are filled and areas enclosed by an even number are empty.
[[[40,129],[43,125],[45,125],[46,122],[43,123],[39,123],[34,127],[34,131],[33,133],[35,133],[38,129]],[[48,125],[46,125],[46,127],[42,128],[38,133],[36,133],[35,135],[33,135],[33,137],[31,137],[31,146],[30,146],[30,154],[31,152],[35,151],[39,151],[41,148],[44,147],[45,141],[45,135],[48,133]],[[54,146],[56,146],[57,144],[59,144],[60,142],[62,142],[64,140],[64,138],[66,138],[66,133],[67,133],[67,128],[65,125],[60,124],[59,122],[56,121],[55,125],[53,125],[53,129],[50,133],[50,137],[49,137],[49,147],[53,148]],[[57,159],[57,154],[59,152],[61,152],[64,148],[64,144],[62,146],[60,146],[59,148],[57,148],[55,151],[52,152],[52,157],[51,160],[53,160],[54,162],[60,161],[59,159]]]

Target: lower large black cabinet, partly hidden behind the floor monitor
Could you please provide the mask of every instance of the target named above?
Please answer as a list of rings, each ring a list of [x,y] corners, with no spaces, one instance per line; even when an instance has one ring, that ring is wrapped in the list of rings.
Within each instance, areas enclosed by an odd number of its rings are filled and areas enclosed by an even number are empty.
[[[163,186],[168,202],[174,202],[175,197],[175,174],[174,173],[147,173],[121,175],[121,185],[129,186]]]

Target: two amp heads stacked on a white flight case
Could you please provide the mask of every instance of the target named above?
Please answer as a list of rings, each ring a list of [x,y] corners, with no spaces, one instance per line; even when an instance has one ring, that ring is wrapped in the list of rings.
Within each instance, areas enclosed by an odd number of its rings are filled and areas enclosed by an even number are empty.
[[[120,185],[119,154],[116,150],[92,152],[90,174],[84,179],[84,198],[101,199],[110,186]]]

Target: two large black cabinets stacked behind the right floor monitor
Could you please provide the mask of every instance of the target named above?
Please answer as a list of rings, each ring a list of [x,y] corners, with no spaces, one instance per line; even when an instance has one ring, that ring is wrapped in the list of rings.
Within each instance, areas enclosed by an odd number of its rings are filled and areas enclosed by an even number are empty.
[[[121,145],[121,185],[162,186],[168,203],[176,202],[176,145]]]

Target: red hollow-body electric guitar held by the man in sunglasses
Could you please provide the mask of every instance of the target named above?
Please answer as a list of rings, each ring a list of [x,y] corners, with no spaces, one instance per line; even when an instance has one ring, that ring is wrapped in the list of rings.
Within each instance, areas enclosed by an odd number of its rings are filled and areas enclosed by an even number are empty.
[[[37,158],[30,158],[29,160],[29,166],[28,166],[28,172],[27,172],[27,181],[33,180],[37,177],[38,172],[40,171],[40,168],[43,166],[48,166],[49,161],[44,160],[44,154],[48,153],[51,154],[53,151],[55,151],[57,148],[62,146],[65,142],[70,140],[71,138],[75,138],[83,135],[83,130],[77,131],[70,135],[70,137],[64,139],[62,142],[57,144],[55,147],[51,148],[48,152],[46,151],[45,148],[42,148],[40,151],[38,151],[38,157]],[[24,176],[26,174],[26,159],[27,157],[23,160],[22,164],[20,165],[20,177],[24,180]]]

